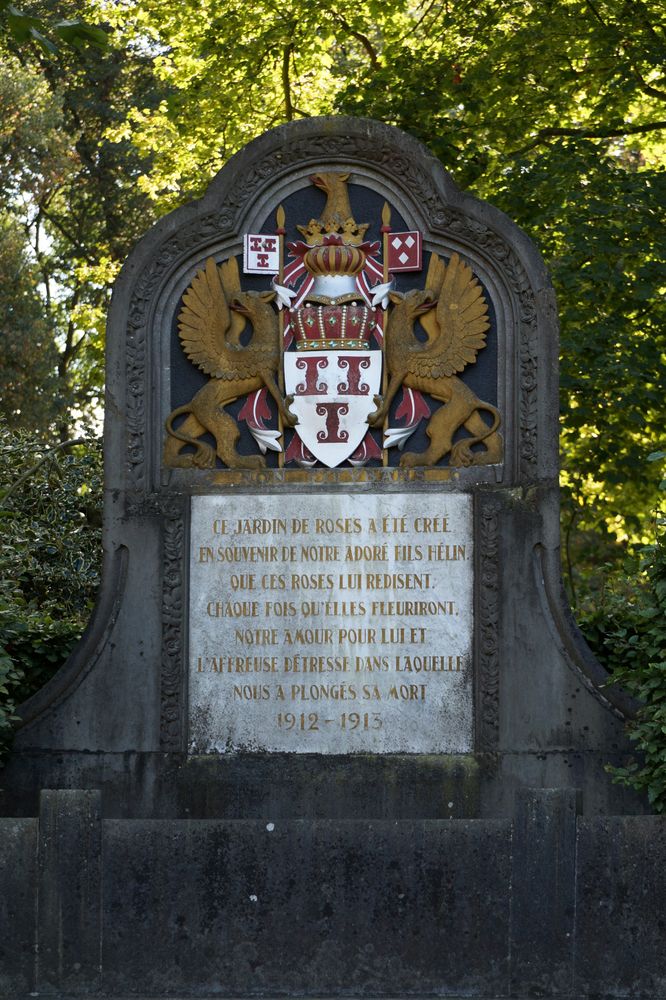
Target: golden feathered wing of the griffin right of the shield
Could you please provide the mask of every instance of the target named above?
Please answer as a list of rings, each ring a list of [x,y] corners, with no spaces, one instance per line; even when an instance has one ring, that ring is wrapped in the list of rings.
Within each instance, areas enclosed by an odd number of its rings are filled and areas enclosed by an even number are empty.
[[[426,288],[437,296],[437,307],[421,317],[429,344],[418,356],[419,371],[433,378],[461,372],[486,346],[488,304],[472,269],[457,253],[446,265],[430,258]]]

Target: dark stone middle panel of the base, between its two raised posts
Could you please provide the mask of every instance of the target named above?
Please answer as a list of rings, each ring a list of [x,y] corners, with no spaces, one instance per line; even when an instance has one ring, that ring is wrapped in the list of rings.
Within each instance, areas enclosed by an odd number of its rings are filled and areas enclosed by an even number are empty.
[[[105,826],[107,989],[506,992],[504,822]]]

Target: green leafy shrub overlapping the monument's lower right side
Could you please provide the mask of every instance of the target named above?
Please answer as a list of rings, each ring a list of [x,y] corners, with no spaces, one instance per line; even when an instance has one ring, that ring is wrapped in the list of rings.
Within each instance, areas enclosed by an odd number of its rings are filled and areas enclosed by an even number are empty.
[[[666,452],[654,452],[659,461]],[[666,484],[662,484],[662,487]],[[638,567],[595,595],[579,614],[581,629],[599,659],[640,702],[628,724],[638,759],[609,767],[613,780],[647,793],[657,813],[666,813],[666,517],[657,516],[656,539]]]

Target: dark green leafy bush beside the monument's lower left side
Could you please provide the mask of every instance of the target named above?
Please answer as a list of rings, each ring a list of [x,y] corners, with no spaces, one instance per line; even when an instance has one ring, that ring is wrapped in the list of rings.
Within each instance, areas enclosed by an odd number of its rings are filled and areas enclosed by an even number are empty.
[[[15,708],[81,635],[99,585],[99,442],[44,447],[0,425],[0,747]]]

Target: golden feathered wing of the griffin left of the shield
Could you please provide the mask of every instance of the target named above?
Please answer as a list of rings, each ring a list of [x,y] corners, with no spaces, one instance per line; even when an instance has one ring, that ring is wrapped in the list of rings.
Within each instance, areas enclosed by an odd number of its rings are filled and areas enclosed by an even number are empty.
[[[193,364],[215,378],[225,376],[227,335],[237,338],[245,325],[244,317],[229,308],[238,291],[240,275],[236,258],[218,267],[214,258],[209,257],[183,296],[178,316],[183,350]]]

